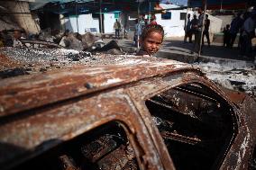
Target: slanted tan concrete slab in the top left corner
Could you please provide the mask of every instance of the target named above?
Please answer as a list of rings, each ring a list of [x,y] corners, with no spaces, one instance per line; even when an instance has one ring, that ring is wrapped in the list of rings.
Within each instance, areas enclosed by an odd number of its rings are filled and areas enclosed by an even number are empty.
[[[8,13],[21,28],[28,33],[38,33],[40,31],[39,25],[34,21],[30,11],[28,2],[21,1],[6,1],[1,3],[8,9]]]

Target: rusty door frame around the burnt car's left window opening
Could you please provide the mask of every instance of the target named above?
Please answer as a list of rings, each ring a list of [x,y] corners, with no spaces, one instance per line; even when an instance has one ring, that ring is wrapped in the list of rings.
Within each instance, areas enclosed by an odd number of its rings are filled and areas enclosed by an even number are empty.
[[[32,111],[29,117],[21,114],[19,119],[2,122],[0,150],[5,154],[1,154],[0,165],[15,166],[101,124],[120,121],[127,127],[133,148],[138,149],[135,152],[141,168],[162,169],[160,157],[148,140],[149,133],[143,129],[142,120],[130,103],[128,95],[123,90],[117,90],[46,106]]]

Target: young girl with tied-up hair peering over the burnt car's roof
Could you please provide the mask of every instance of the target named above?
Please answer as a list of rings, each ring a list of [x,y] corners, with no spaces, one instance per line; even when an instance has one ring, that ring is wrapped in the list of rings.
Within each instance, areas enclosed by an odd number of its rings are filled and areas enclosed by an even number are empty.
[[[142,49],[137,52],[136,56],[143,55],[153,55],[159,49],[160,45],[163,41],[164,31],[162,26],[159,24],[156,25],[147,25],[142,31],[142,35],[140,37],[140,44]]]

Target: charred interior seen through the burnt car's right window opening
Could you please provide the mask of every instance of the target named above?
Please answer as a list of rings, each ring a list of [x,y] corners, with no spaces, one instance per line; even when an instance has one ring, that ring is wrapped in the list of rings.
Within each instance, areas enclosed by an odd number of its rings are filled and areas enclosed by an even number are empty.
[[[187,84],[146,102],[176,169],[217,169],[235,134],[233,110],[213,90]]]

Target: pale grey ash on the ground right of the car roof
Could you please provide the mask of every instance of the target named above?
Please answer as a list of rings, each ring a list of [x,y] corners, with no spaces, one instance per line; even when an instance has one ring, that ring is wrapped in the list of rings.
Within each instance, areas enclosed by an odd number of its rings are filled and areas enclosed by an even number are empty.
[[[253,63],[226,61],[224,63],[196,63],[206,76],[217,85],[245,92],[256,98],[256,69]]]

